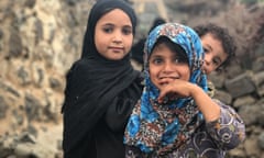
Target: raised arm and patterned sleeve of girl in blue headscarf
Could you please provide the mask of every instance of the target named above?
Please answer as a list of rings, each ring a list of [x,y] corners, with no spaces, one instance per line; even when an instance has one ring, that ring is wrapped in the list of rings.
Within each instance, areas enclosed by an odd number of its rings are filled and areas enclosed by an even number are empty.
[[[200,129],[208,132],[210,135],[208,138],[212,138],[218,148],[230,150],[244,140],[245,126],[239,114],[231,106],[212,100],[198,86],[184,80],[174,80],[161,89],[160,101],[167,94],[194,98],[206,120],[205,128]]]

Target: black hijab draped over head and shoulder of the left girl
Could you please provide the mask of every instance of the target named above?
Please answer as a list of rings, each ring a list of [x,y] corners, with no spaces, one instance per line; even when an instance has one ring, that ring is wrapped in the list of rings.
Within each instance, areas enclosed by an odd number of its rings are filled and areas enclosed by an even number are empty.
[[[69,153],[90,134],[109,104],[138,77],[130,64],[130,54],[120,60],[103,58],[95,46],[95,27],[98,20],[113,9],[128,13],[133,26],[136,16],[133,9],[121,0],[99,0],[90,11],[82,44],[81,58],[66,77],[64,113],[64,153]]]

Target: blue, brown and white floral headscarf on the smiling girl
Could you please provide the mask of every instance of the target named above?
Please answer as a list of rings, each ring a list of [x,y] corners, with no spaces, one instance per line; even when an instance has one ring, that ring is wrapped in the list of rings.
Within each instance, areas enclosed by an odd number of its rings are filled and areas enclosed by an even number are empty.
[[[205,54],[197,33],[178,23],[166,23],[155,27],[145,42],[145,87],[127,125],[124,144],[136,146],[144,153],[156,153],[156,155],[164,155],[178,148],[204,121],[193,98],[168,99],[162,104],[157,102],[160,90],[150,79],[148,58],[155,43],[162,36],[184,48],[190,68],[189,82],[207,91],[207,79],[201,71]]]

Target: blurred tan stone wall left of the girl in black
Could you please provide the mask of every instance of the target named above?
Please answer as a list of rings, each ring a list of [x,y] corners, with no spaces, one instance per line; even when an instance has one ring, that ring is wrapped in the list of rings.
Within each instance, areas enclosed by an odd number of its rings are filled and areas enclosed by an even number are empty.
[[[0,1],[0,157],[62,156],[65,74],[92,1]]]

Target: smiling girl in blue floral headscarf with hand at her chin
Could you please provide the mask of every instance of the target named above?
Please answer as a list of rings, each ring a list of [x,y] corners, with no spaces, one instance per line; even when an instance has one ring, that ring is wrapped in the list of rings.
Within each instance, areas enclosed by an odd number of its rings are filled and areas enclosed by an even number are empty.
[[[127,158],[223,158],[244,139],[237,112],[207,94],[205,54],[193,29],[157,26],[144,55],[145,88],[125,128]]]

